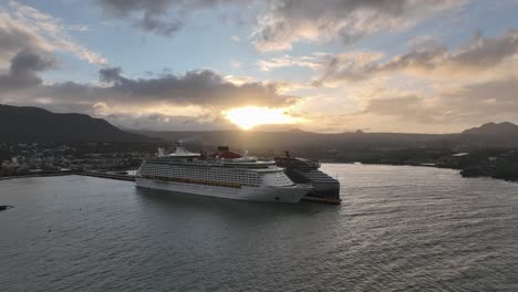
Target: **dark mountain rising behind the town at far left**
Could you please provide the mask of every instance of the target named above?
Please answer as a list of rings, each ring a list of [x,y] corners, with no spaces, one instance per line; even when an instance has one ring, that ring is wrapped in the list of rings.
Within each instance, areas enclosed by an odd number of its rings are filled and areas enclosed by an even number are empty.
[[[0,104],[0,142],[144,142],[102,118]]]

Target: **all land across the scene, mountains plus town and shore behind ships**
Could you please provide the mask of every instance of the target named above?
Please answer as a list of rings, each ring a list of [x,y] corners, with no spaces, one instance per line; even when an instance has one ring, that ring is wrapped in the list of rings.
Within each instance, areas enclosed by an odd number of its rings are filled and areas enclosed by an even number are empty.
[[[266,159],[289,150],[293,156],[322,163],[434,166],[462,169],[467,177],[518,180],[518,126],[508,122],[488,123],[457,134],[125,132],[84,114],[0,105],[0,176],[24,175],[40,168],[130,169],[154,157],[156,147],[168,148],[177,140],[203,153],[227,145]]]

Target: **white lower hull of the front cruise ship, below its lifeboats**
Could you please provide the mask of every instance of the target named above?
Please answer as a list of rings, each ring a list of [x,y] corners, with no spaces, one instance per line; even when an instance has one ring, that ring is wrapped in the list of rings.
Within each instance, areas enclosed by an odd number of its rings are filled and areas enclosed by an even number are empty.
[[[312,190],[310,185],[294,185],[286,187],[246,187],[228,188],[176,181],[164,181],[137,177],[136,186],[149,189],[162,189],[174,192],[209,196],[234,200],[271,201],[271,202],[299,202],[300,199]]]

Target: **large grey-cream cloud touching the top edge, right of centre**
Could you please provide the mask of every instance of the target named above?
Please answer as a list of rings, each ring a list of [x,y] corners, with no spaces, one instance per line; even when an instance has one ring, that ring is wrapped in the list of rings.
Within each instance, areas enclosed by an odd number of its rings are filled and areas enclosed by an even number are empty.
[[[290,50],[293,43],[340,39],[349,44],[379,32],[402,30],[464,1],[279,0],[260,17],[253,44],[259,51]]]

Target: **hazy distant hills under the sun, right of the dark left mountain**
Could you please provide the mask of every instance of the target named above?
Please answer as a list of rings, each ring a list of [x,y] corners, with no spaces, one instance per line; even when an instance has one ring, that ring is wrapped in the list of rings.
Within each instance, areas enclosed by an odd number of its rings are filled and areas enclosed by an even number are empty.
[[[288,132],[209,131],[151,132],[135,134],[193,145],[230,145],[246,149],[365,149],[365,148],[480,148],[518,147],[518,126],[488,123],[457,134],[363,133],[320,134],[293,129]]]

